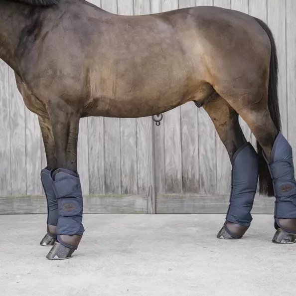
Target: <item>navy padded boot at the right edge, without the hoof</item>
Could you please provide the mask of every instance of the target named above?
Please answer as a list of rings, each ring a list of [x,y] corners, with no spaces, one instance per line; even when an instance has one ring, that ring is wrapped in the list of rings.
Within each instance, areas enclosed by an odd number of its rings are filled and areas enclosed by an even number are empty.
[[[275,191],[275,218],[296,218],[296,181],[292,147],[279,133],[271,154],[266,159]]]

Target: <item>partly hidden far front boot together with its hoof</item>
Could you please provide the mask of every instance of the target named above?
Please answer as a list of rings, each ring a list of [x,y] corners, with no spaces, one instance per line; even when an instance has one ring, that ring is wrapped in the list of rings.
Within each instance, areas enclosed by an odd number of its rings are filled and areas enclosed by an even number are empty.
[[[44,168],[41,170],[41,182],[47,202],[47,233],[41,240],[41,246],[53,246],[56,240],[56,228],[59,218],[58,204],[53,184],[50,177],[50,170]]]

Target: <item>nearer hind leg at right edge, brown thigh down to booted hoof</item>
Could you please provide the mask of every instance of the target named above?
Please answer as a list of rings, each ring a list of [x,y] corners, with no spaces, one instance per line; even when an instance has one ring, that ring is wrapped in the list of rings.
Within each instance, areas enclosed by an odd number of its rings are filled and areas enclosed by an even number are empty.
[[[242,106],[239,100],[229,102],[238,110],[264,151],[262,158],[268,164],[276,197],[274,216],[277,232],[273,242],[293,243],[296,241],[296,181],[292,148],[271,118],[267,94],[257,100],[257,104],[252,104],[256,99],[249,98],[248,101],[250,104],[247,106]]]

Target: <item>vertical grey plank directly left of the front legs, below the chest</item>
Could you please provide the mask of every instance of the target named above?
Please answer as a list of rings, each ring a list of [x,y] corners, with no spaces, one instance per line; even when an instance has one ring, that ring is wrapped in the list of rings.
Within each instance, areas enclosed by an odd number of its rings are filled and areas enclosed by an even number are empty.
[[[25,145],[27,195],[41,194],[41,131],[38,117],[25,107]]]

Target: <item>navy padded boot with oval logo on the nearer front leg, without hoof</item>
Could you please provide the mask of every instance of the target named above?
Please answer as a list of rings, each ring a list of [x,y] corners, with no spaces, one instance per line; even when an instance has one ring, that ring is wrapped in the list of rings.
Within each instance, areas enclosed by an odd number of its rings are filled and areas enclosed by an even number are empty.
[[[82,236],[83,198],[79,175],[59,168],[51,171],[51,178],[58,201],[57,234]]]

